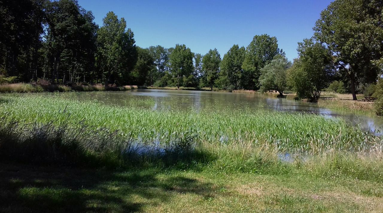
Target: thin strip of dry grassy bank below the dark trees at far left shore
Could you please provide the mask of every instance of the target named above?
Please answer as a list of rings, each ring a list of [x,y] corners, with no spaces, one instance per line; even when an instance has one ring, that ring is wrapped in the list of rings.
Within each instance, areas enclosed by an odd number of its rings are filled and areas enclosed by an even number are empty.
[[[101,84],[96,85],[75,85],[65,86],[56,84],[26,84],[26,83],[15,83],[15,84],[0,84],[0,93],[8,92],[70,92],[70,91],[124,91],[138,89],[137,86],[121,86],[121,87],[108,87]]]

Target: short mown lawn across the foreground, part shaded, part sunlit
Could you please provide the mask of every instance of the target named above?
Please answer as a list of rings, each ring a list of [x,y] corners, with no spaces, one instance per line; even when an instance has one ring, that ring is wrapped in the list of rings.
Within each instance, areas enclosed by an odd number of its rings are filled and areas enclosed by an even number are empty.
[[[1,212],[382,212],[383,187],[304,175],[0,165]]]

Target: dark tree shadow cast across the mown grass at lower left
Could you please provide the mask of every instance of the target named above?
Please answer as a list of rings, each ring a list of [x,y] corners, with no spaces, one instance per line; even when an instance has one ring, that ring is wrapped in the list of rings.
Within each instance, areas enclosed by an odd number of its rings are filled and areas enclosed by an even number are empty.
[[[0,164],[0,212],[136,212],[179,193],[213,195],[211,183],[161,173]]]

